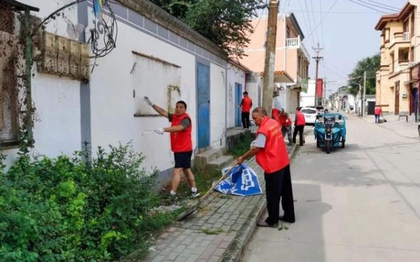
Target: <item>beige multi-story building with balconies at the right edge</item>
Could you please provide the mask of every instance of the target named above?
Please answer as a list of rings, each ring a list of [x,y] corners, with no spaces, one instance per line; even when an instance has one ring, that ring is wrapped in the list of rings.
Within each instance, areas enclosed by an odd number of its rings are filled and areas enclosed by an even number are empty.
[[[375,27],[382,32],[376,104],[395,115],[417,116],[419,111],[419,2],[411,0],[399,13],[381,16]]]

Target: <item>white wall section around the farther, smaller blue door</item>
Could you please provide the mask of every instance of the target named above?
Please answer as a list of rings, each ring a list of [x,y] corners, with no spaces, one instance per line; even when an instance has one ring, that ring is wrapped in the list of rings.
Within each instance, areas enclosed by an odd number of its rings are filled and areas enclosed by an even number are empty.
[[[228,64],[228,83],[227,88],[228,92],[226,95],[226,116],[227,116],[227,128],[235,127],[235,110],[237,109],[237,105],[235,105],[236,97],[235,97],[235,83],[239,83],[242,85],[242,92],[245,90],[248,91],[249,97],[251,97],[253,104],[256,103],[258,96],[253,93],[253,90],[248,90],[248,83],[245,83],[245,73],[242,69],[235,67],[232,64]],[[252,89],[252,88],[251,88]],[[241,95],[242,97],[242,95]]]

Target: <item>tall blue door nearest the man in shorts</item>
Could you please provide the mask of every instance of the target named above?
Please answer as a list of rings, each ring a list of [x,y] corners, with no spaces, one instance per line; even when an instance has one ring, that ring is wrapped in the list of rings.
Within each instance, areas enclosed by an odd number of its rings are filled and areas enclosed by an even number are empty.
[[[197,63],[197,129],[198,148],[210,145],[210,69]]]

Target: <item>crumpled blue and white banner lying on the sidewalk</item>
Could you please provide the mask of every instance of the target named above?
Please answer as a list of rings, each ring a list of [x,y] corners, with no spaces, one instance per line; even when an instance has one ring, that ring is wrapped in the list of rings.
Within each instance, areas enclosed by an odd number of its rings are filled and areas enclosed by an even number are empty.
[[[222,174],[228,172],[230,167],[222,170]],[[262,194],[260,183],[255,172],[242,164],[234,167],[226,179],[222,180],[214,190],[228,195],[260,195]]]

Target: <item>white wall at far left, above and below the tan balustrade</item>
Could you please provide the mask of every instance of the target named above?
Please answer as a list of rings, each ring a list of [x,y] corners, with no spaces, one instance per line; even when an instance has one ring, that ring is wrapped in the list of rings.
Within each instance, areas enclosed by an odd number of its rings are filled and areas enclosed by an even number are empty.
[[[39,12],[32,13],[39,18],[45,18],[60,6],[69,4],[71,0],[34,1],[21,0],[39,8]],[[57,17],[46,24],[46,31],[70,39],[78,39],[73,25],[77,23],[77,8],[65,11],[66,19]],[[80,151],[80,81],[51,74],[38,74],[36,65],[32,67],[31,80],[32,101],[36,108],[34,122],[34,153],[46,156],[59,156]],[[3,151],[8,155],[7,165],[16,158],[16,149]]]

